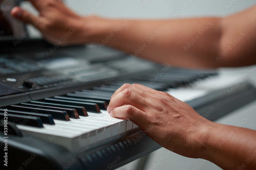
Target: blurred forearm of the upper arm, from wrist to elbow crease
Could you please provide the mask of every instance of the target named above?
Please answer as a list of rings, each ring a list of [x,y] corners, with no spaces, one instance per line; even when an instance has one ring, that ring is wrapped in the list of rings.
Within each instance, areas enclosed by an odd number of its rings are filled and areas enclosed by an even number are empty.
[[[99,46],[176,66],[218,67],[221,18],[100,21],[92,38]]]

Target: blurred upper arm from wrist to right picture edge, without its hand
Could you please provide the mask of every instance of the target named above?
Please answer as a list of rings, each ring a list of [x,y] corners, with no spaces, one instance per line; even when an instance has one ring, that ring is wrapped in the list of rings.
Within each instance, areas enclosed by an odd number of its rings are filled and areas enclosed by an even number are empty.
[[[90,42],[133,57],[185,67],[246,66],[256,63],[255,9],[225,18],[126,22],[94,18],[87,30],[93,30]]]

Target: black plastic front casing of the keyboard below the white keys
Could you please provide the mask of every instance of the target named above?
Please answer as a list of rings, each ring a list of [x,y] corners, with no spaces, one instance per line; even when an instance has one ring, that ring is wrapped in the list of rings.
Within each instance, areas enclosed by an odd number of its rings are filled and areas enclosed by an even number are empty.
[[[2,134],[0,138],[4,143]],[[1,164],[0,169],[115,169],[159,148],[160,145],[141,131],[97,148],[84,145],[76,152],[28,135],[9,136],[8,160],[15,161],[8,167]]]

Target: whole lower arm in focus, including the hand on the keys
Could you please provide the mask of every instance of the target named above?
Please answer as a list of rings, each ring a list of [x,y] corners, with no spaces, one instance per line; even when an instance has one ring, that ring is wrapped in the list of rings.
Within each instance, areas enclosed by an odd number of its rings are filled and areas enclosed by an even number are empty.
[[[255,130],[210,122],[168,93],[124,84],[111,97],[108,112],[131,120],[180,155],[206,159],[223,169],[256,169]]]

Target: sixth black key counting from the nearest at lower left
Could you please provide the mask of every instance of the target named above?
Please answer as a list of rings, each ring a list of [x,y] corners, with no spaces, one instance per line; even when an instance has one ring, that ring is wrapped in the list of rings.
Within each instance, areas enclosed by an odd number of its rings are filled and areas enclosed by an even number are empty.
[[[45,98],[45,101],[52,102],[52,103],[74,105],[74,106],[82,106],[89,112],[101,113],[100,108],[96,103],[87,103],[87,102],[71,101],[71,100],[68,101],[68,100],[60,100],[60,99],[52,99],[52,98]]]

